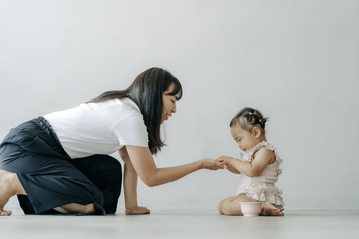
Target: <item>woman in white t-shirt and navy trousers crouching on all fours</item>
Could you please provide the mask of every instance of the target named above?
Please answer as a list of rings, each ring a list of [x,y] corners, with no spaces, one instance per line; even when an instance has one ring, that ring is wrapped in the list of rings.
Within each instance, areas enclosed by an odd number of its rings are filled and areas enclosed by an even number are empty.
[[[123,91],[108,91],[73,109],[40,116],[10,130],[0,144],[0,215],[17,195],[25,214],[113,214],[123,187],[126,214],[137,206],[137,175],[150,186],[176,181],[198,169],[216,170],[204,158],[157,168],[152,155],[165,144],[160,125],[176,113],[182,86],[161,68],[150,68]]]

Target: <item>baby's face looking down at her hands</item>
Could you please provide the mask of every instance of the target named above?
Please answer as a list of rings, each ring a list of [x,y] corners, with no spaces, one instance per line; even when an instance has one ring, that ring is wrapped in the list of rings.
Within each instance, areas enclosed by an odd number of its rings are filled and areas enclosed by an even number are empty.
[[[257,138],[254,133],[248,132],[237,125],[230,127],[230,134],[236,142],[238,147],[243,150],[249,150],[257,145]]]

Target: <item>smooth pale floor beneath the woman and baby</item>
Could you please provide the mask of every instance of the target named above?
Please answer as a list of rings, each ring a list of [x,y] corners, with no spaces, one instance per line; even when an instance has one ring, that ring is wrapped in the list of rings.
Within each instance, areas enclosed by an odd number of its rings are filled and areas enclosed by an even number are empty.
[[[9,210],[9,209],[8,209]],[[359,238],[359,210],[284,210],[283,217],[152,209],[150,215],[0,216],[1,238]]]

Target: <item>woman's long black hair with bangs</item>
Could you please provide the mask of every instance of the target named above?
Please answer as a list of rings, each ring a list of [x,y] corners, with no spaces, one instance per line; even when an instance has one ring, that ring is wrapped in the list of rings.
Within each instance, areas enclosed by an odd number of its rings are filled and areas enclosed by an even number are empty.
[[[112,99],[129,98],[140,108],[148,132],[148,147],[152,154],[157,154],[164,142],[160,136],[160,124],[163,112],[164,91],[174,86],[168,95],[182,97],[180,81],[171,73],[161,68],[150,68],[138,75],[126,90],[107,91],[86,103],[99,103]]]

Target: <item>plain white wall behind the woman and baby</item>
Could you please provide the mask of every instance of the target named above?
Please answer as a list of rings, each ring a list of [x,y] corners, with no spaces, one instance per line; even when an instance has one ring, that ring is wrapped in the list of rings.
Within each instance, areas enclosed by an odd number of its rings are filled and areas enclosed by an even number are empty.
[[[1,0],[0,138],[164,67],[183,99],[158,167],[239,157],[229,122],[249,106],[270,117],[287,209],[358,208],[358,10],[349,0]],[[216,208],[238,178],[202,170],[153,188],[140,181],[138,201]]]

